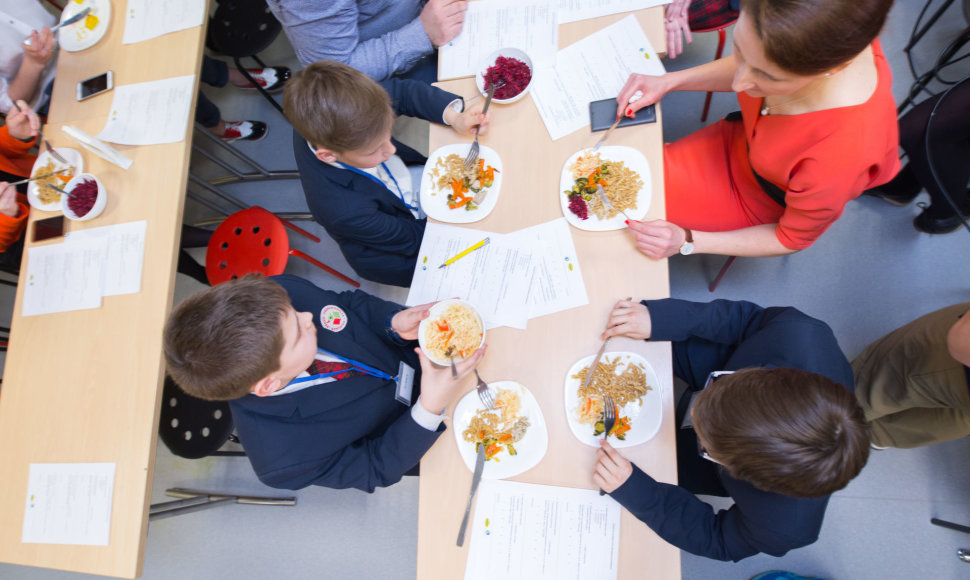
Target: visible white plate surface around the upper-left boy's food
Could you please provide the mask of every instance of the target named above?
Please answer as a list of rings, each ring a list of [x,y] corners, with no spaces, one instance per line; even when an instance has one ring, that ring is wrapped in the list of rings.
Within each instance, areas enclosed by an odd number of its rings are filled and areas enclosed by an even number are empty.
[[[428,163],[424,166],[424,173],[421,175],[421,209],[428,214],[428,217],[452,224],[468,224],[484,219],[495,209],[495,204],[498,203],[498,194],[502,189],[502,159],[491,147],[485,145],[480,145],[480,147],[479,158],[485,160],[486,166],[491,165],[495,168],[495,180],[492,182],[492,187],[488,189],[485,201],[478,206],[478,209],[471,211],[463,207],[449,209],[448,194],[451,193],[451,189],[446,186],[445,189],[439,190],[436,187],[435,182],[437,180],[431,177],[431,171],[438,160],[452,153],[464,159],[471,148],[470,143],[452,143],[440,147],[428,157]]]

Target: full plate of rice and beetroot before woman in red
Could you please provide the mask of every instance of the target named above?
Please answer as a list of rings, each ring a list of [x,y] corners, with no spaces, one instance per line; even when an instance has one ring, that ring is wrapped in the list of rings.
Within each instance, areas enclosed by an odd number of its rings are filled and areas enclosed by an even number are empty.
[[[650,183],[650,165],[636,149],[607,145],[596,153],[577,151],[566,160],[559,180],[562,213],[581,230],[621,230],[626,218],[603,204],[597,184],[603,186],[610,203],[639,220],[650,209]]]

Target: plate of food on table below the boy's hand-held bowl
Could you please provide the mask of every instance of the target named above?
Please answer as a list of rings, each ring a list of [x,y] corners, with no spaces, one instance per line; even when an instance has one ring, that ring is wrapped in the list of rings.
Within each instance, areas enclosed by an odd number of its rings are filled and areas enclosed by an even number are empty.
[[[495,381],[489,391],[495,409],[487,409],[473,389],[455,406],[452,430],[469,471],[475,470],[478,447],[484,445],[482,477],[505,479],[538,465],[549,448],[549,433],[529,389],[514,381]]]

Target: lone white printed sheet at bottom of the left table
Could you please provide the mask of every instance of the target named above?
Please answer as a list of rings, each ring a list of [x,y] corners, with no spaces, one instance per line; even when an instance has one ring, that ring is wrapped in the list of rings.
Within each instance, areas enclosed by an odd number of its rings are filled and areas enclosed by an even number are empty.
[[[114,463],[31,463],[21,541],[107,546]]]

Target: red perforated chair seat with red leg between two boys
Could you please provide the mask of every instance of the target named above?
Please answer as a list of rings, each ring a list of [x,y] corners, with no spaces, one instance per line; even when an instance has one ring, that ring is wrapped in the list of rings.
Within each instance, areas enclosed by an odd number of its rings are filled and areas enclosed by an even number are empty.
[[[303,258],[360,288],[355,280],[290,248],[283,222],[258,205],[237,211],[212,232],[205,255],[205,274],[213,286],[254,272],[275,276],[283,273],[290,256]]]

